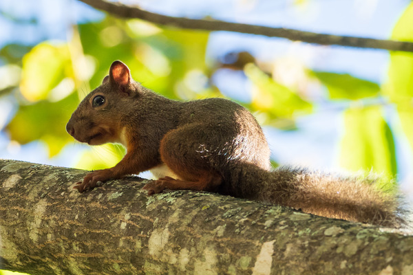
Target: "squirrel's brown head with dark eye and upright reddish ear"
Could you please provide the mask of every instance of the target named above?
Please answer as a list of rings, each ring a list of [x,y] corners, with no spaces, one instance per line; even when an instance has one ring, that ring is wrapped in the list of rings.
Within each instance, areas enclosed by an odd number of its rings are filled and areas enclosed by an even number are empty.
[[[122,142],[122,120],[131,99],[139,96],[127,65],[114,61],[102,84],[78,105],[66,124],[66,131],[79,142],[100,145]]]

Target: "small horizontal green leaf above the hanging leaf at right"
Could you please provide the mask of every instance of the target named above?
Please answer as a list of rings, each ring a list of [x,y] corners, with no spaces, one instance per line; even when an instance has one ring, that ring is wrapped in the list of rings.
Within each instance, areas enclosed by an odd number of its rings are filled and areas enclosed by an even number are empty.
[[[328,89],[331,99],[358,100],[377,96],[380,91],[377,83],[351,76],[350,74],[335,74],[330,72],[313,72]]]

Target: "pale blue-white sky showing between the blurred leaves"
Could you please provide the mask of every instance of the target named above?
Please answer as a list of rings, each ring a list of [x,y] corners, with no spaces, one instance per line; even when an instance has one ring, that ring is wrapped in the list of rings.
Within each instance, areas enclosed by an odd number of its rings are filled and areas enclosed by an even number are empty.
[[[396,20],[410,1],[407,0],[209,0],[209,1],[165,1],[140,0],[123,1],[138,3],[151,12],[171,16],[202,18],[251,23],[273,27],[296,28],[328,34],[364,36],[388,39]],[[301,3],[293,5],[292,3]],[[0,47],[8,43],[36,44],[44,40],[65,41],[70,38],[73,23],[98,21],[103,14],[75,0],[1,0],[0,1]],[[20,19],[12,22],[8,17]],[[36,20],[36,25],[28,22]],[[321,71],[347,73],[375,83],[384,83],[388,69],[389,54],[384,50],[361,50],[339,46],[317,46],[304,43],[290,43],[286,39],[268,39],[264,36],[213,32],[207,49],[207,58],[222,58],[227,52],[247,50],[260,61],[274,61],[277,58],[293,56],[307,67]],[[0,66],[2,64],[0,63]],[[240,100],[251,96],[243,89],[236,75],[215,76],[215,83],[224,94]],[[0,70],[0,81],[1,79]],[[238,86],[234,85],[236,83]],[[244,83],[248,85],[248,83]],[[239,91],[244,93],[239,94]],[[238,96],[236,93],[238,92]],[[8,99],[0,98],[0,128],[5,124]],[[339,142],[342,135],[341,113],[335,108],[327,108],[319,102],[318,111],[297,120],[299,131],[285,132],[264,127],[271,144],[273,157],[283,164],[304,165],[311,168],[338,168]],[[337,106],[340,109],[340,106]],[[3,110],[3,111],[2,111]],[[3,116],[3,118],[1,117]],[[388,110],[388,121],[394,129],[399,122],[394,111]],[[64,125],[63,125],[64,126]],[[41,142],[25,146],[9,144],[7,135],[0,133],[0,157],[23,159],[60,166],[73,166],[85,146],[67,146],[54,159],[48,159],[47,148]],[[401,136],[396,143],[401,178],[412,177],[408,168],[412,159],[410,150]],[[401,160],[401,162],[400,162]]]

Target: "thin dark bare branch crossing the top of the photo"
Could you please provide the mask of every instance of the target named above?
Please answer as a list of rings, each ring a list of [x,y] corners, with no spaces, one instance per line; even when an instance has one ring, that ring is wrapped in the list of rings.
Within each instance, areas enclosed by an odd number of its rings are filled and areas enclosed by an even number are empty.
[[[183,17],[169,17],[162,14],[147,12],[138,7],[112,3],[106,0],[79,0],[98,10],[105,10],[110,14],[124,18],[137,18],[151,23],[167,25],[176,28],[241,32],[244,34],[258,34],[270,37],[279,37],[291,41],[302,41],[319,45],[341,45],[347,47],[362,47],[390,51],[413,52],[412,42],[392,41],[383,39],[368,39],[354,36],[338,36],[332,34],[318,34],[286,28],[271,28],[261,25],[230,23],[218,20],[187,19]]]

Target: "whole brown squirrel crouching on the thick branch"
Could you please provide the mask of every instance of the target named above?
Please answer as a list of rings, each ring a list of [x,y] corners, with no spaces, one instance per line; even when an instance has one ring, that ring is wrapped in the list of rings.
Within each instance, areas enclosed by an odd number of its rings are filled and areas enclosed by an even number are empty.
[[[270,150],[260,125],[239,104],[223,98],[179,102],[142,87],[114,61],[109,76],[88,94],[67,122],[67,133],[90,145],[127,148],[113,168],[94,170],[74,186],[151,170],[159,179],[143,188],[205,190],[255,199],[325,217],[399,227],[396,195],[368,180],[340,178],[301,168],[270,171]]]

